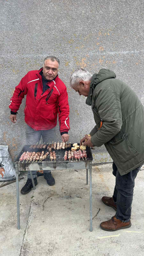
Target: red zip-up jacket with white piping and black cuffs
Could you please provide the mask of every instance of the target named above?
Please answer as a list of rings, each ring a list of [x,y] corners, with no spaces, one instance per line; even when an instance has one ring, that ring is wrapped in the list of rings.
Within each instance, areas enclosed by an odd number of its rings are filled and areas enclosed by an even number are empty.
[[[60,132],[68,132],[69,105],[68,93],[65,84],[58,75],[48,82],[49,90],[43,93],[42,70],[29,71],[15,87],[9,108],[17,112],[24,96],[26,106],[24,109],[25,122],[35,131],[49,130],[57,124],[59,113]]]

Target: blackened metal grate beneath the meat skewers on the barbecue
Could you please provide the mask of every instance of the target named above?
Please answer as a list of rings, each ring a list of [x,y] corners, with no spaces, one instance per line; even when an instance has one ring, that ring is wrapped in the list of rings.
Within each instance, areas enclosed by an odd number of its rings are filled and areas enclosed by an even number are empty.
[[[78,144],[78,145],[80,145],[80,144]],[[44,154],[46,153],[46,152],[49,152],[48,151],[48,149],[47,148],[29,148],[30,147],[30,145],[26,145],[26,146],[24,146],[23,148],[22,148],[22,150],[20,151],[20,154],[18,155],[18,157],[17,157],[17,160],[16,160],[16,162],[19,162],[20,160],[19,160],[19,158],[20,158],[20,156],[22,155],[22,153],[23,152],[42,152],[42,151],[44,151]],[[73,144],[71,144],[71,147],[73,147]],[[68,160],[66,160],[66,161],[64,161],[64,154],[65,154],[65,152],[66,151],[68,151],[68,150],[70,150],[71,148],[65,148],[65,149],[59,149],[59,150],[57,150],[57,149],[53,149],[52,148],[52,151],[55,151],[55,154],[56,154],[56,162],[69,162],[69,159]],[[91,151],[91,148],[89,148],[89,147],[86,147],[86,154],[87,154],[87,158],[85,159],[84,158],[84,160],[83,160],[83,158],[80,158],[80,161],[92,161],[92,151]],[[43,161],[49,161],[49,162],[51,162],[51,159],[50,159],[50,153],[49,153],[49,155],[47,156],[47,158],[46,159],[44,159],[44,160],[42,160],[42,162]],[[71,161],[72,161],[72,159],[71,159]],[[73,159],[73,161],[76,161],[76,159]],[[24,161],[24,163],[26,163],[27,162],[27,160],[25,160]],[[37,161],[37,163],[38,163],[39,161]],[[41,163],[42,163],[41,162]],[[52,162],[54,162],[54,160],[52,160]],[[79,162],[79,160],[77,159],[77,162]],[[32,163],[32,162],[30,162],[30,163]],[[34,161],[34,163],[35,163],[35,161]]]

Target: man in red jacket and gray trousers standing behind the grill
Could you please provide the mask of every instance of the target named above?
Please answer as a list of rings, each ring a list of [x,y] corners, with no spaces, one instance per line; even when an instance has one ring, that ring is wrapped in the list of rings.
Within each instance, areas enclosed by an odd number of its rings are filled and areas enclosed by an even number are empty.
[[[25,95],[26,106],[24,109],[26,129],[26,145],[36,144],[41,136],[43,142],[55,141],[55,126],[59,114],[60,134],[63,142],[68,141],[69,135],[69,105],[68,93],[65,84],[58,76],[60,61],[54,56],[44,59],[43,68],[29,71],[15,87],[9,108],[10,119],[16,122],[16,114]],[[37,185],[36,171],[33,172],[34,182]],[[52,186],[55,180],[51,171],[44,171],[44,179]],[[21,189],[22,194],[27,194],[31,188],[32,180],[28,172],[28,180]]]

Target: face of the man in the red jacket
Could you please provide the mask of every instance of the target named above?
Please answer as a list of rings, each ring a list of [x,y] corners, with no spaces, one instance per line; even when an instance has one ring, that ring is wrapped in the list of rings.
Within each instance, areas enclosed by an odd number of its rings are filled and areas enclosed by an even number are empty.
[[[43,75],[47,80],[53,80],[58,74],[59,63],[55,60],[45,60]]]

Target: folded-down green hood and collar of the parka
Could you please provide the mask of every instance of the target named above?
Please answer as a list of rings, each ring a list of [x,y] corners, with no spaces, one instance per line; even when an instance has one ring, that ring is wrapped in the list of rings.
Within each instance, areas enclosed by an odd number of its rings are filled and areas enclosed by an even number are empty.
[[[116,78],[116,74],[113,71],[106,68],[101,68],[98,74],[96,73],[93,74],[91,84],[90,84],[90,91],[86,99],[87,105],[89,106],[92,105],[92,94],[96,85],[109,78]]]

